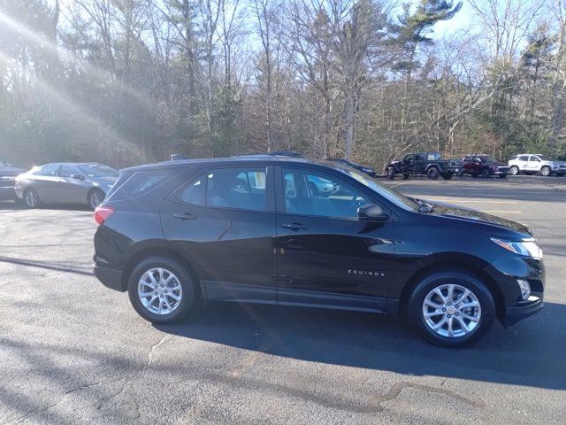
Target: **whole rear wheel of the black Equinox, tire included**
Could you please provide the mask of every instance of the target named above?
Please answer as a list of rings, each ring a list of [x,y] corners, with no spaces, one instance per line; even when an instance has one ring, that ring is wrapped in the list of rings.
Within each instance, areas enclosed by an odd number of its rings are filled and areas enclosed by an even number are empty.
[[[163,270],[163,272],[159,272],[159,270]],[[153,275],[157,286],[151,281],[150,274]],[[163,280],[170,276],[172,278],[170,282],[159,283],[160,276]],[[159,286],[162,284],[165,286]],[[173,323],[180,321],[194,311],[197,304],[196,285],[195,279],[177,261],[165,257],[152,257],[142,260],[134,268],[128,279],[127,290],[130,302],[143,319],[151,323]],[[147,290],[147,297],[140,294],[143,289]],[[152,290],[155,290],[153,294],[151,293]],[[165,293],[165,290],[169,290],[169,292]],[[176,300],[173,296],[180,299]],[[154,300],[152,301],[152,299]],[[157,301],[159,301],[158,305]],[[170,308],[164,302],[169,303]]]

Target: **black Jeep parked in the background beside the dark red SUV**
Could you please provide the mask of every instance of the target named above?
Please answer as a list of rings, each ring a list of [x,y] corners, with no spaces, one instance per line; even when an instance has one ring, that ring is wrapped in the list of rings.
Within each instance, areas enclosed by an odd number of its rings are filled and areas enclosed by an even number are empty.
[[[452,175],[458,173],[458,165],[447,159],[441,159],[439,152],[408,153],[401,161],[391,161],[386,166],[386,174],[394,180],[395,174],[402,174],[404,179],[409,174],[426,174],[429,179],[436,180],[442,176],[450,180]]]

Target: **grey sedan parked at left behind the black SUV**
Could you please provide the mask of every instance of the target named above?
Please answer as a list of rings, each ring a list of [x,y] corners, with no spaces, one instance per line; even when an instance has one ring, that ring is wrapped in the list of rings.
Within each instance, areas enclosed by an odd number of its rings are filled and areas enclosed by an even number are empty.
[[[30,208],[42,204],[100,205],[119,172],[103,164],[57,163],[36,166],[16,178],[16,195]]]

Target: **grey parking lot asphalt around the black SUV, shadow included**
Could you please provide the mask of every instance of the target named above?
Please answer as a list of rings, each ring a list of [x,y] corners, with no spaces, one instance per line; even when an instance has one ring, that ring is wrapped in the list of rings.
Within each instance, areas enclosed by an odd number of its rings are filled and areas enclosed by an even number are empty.
[[[546,308],[458,350],[369,313],[152,326],[92,275],[92,213],[0,203],[0,423],[564,423],[566,177],[386,184],[532,228]]]

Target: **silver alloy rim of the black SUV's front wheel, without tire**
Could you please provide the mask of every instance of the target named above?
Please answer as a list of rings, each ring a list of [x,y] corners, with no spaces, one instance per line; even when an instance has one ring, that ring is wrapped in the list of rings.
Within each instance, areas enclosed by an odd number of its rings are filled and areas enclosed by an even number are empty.
[[[424,298],[423,319],[437,335],[449,338],[466,336],[478,328],[481,305],[478,297],[463,286],[440,285]]]

